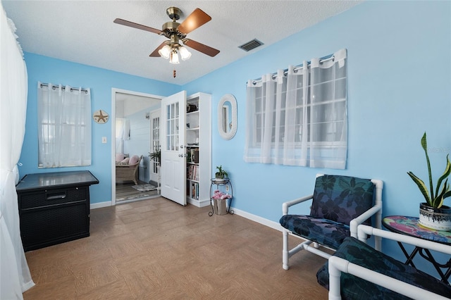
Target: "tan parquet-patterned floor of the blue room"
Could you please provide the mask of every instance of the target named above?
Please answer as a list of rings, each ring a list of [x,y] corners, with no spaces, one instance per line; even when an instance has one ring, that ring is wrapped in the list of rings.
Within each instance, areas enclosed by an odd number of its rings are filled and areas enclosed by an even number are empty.
[[[302,251],[283,270],[281,232],[209,210],[161,197],[93,209],[89,237],[26,252],[24,299],[327,299],[323,258]]]

